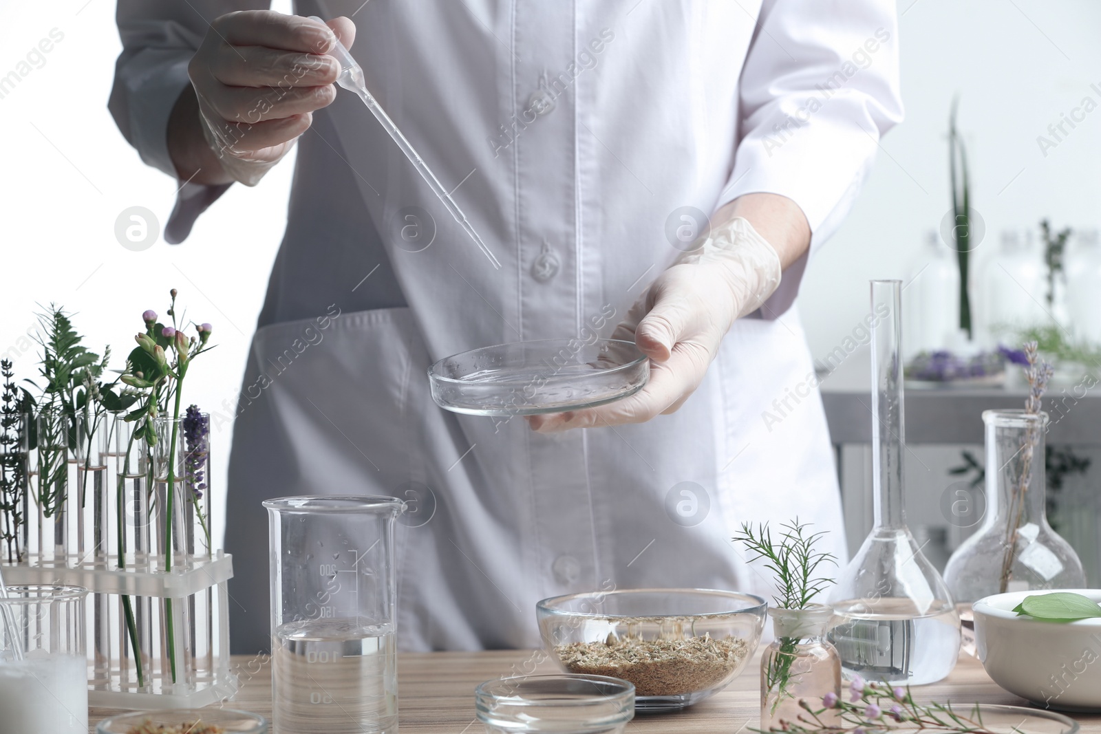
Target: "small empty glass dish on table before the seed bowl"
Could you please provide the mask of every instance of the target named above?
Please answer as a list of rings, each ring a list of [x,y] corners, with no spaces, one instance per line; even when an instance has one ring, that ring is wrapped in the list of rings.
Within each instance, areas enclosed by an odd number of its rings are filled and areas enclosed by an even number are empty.
[[[489,734],[619,734],[634,717],[634,686],[607,676],[515,676],[475,691]]]

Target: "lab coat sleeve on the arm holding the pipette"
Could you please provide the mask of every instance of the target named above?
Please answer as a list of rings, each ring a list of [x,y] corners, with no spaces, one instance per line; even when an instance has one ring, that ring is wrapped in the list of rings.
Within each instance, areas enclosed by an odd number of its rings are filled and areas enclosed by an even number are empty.
[[[119,0],[116,23],[122,53],[115,65],[108,109],[127,141],[148,165],[176,177],[168,155],[168,114],[190,84],[187,63],[210,21],[236,10],[270,7],[270,0]],[[226,186],[187,184],[165,224],[165,240],[181,242],[195,219]]]

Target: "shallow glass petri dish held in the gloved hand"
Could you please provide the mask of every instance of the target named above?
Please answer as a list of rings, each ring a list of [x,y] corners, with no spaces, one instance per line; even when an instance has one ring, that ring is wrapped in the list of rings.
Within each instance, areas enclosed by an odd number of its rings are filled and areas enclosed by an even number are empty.
[[[517,341],[445,357],[428,369],[436,405],[480,416],[596,407],[633,395],[648,379],[646,355],[618,339]]]

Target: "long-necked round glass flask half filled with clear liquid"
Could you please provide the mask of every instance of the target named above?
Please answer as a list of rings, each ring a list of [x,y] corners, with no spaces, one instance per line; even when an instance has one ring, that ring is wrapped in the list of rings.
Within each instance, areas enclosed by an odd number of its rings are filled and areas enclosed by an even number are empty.
[[[829,640],[847,676],[917,686],[956,667],[960,618],[944,579],[906,527],[901,284],[872,281],[874,526],[830,594]]]

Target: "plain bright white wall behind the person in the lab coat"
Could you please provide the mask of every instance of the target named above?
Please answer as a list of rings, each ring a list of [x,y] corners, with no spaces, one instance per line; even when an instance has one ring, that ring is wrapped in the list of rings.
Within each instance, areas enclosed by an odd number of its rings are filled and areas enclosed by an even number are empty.
[[[255,189],[235,186],[184,245],[120,247],[119,212],[144,206],[163,222],[175,184],[141,164],[107,111],[119,52],[113,10],[109,0],[8,0],[0,8],[0,76],[52,29],[64,33],[41,68],[0,99],[0,352],[23,351],[36,304],[55,302],[76,314],[92,348],[110,343],[121,360],[141,311],[163,315],[176,287],[188,317],[215,325],[218,348],[197,363],[185,390],[188,402],[214,410],[236,397],[284,226],[292,162]],[[1101,4],[902,0],[900,12],[907,119],[884,141],[852,216],[804,281],[800,310],[816,355],[866,313],[869,278],[919,267],[922,234],[949,208],[945,132],[956,92],[974,164],[973,206],[991,232],[980,250],[999,229],[1042,216],[1060,226],[1101,219],[1101,110],[1046,158],[1036,144],[1083,96],[1101,101],[1089,88],[1101,84]],[[17,357],[23,376],[35,353]],[[216,500],[225,491],[229,436],[228,425],[215,434]]]

